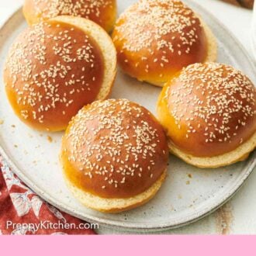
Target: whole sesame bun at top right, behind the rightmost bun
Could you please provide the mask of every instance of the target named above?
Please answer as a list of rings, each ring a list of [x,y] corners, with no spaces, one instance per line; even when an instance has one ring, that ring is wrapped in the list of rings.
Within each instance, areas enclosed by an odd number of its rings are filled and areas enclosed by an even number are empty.
[[[182,67],[216,61],[216,40],[204,22],[177,0],[140,0],[119,17],[112,33],[123,71],[163,86]]]

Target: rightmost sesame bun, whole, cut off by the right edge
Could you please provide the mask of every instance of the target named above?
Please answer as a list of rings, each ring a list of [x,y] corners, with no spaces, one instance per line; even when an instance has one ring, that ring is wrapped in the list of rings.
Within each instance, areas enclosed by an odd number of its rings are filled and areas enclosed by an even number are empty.
[[[157,113],[173,153],[185,161],[229,158],[195,164],[215,167],[239,161],[254,150],[255,100],[254,85],[234,67],[192,64],[164,86]]]

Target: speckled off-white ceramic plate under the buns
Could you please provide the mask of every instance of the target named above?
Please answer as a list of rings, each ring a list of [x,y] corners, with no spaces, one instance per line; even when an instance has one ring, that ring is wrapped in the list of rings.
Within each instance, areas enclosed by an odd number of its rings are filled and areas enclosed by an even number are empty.
[[[135,1],[118,2],[119,12],[123,12]],[[208,12],[193,2],[186,2],[213,29],[219,44],[218,61],[244,71],[256,84],[255,64],[240,43]],[[18,10],[0,30],[1,74],[12,41],[25,27],[22,11]],[[111,97],[139,102],[155,112],[155,102],[160,92],[160,88],[143,85],[119,71]],[[0,123],[0,154],[23,182],[43,199],[73,216],[119,229],[162,230],[199,220],[227,202],[256,165],[256,152],[247,161],[216,170],[193,168],[170,156],[168,178],[154,199],[126,213],[103,214],[81,206],[67,190],[58,162],[63,133],[38,133],[21,123],[7,102],[2,79]]]

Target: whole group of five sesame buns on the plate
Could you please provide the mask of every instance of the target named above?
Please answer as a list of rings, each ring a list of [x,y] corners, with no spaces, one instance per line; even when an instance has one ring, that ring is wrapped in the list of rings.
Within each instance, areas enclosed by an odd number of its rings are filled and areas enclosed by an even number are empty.
[[[23,12],[30,27],[9,51],[6,94],[33,129],[66,130],[64,178],[85,206],[119,213],[143,205],[164,182],[169,151],[217,168],[255,149],[255,87],[213,62],[213,33],[181,1],[139,0],[115,26],[114,0],[26,0]],[[108,99],[117,62],[163,87],[158,120],[135,102]]]

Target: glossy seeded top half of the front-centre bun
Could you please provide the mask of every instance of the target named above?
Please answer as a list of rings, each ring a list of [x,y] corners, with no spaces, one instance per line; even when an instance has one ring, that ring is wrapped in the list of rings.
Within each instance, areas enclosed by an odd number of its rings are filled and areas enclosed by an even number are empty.
[[[103,198],[129,198],[150,188],[168,164],[164,130],[143,107],[126,99],[85,106],[62,143],[67,178]]]

